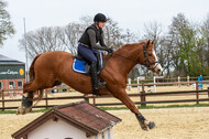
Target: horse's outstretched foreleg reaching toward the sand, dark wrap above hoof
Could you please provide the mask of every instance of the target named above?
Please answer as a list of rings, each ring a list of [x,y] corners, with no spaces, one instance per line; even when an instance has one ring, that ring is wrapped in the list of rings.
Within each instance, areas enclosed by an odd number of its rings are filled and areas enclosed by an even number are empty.
[[[144,116],[139,111],[135,104],[128,96],[125,89],[117,92],[113,94],[113,96],[120,99],[132,113],[135,114],[143,130],[148,130],[155,127],[155,122],[146,120]]]

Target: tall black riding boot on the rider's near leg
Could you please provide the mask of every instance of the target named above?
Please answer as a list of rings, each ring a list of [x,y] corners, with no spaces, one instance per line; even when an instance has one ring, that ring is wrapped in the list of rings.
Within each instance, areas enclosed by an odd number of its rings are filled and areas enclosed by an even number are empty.
[[[101,88],[101,87],[105,87],[105,86],[98,79],[97,64],[94,63],[94,62],[90,65],[90,75],[91,75],[91,83],[92,83],[92,94],[94,95],[99,95],[98,89]]]

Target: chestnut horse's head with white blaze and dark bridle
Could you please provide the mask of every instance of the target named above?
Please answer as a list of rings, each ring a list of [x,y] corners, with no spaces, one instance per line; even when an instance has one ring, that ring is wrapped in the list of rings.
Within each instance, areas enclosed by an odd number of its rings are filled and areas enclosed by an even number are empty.
[[[158,63],[155,50],[153,49],[154,40],[151,42],[150,40],[143,44],[143,54],[144,60],[142,64],[147,66],[153,73],[161,74],[163,68]]]

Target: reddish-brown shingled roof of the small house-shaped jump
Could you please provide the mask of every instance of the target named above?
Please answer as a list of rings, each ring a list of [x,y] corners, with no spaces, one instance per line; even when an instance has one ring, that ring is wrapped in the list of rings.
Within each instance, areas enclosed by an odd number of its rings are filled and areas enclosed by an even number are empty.
[[[12,137],[15,139],[24,137],[50,119],[55,121],[61,119],[74,125],[89,136],[98,135],[121,121],[120,118],[82,100],[53,107],[50,111],[14,132]]]

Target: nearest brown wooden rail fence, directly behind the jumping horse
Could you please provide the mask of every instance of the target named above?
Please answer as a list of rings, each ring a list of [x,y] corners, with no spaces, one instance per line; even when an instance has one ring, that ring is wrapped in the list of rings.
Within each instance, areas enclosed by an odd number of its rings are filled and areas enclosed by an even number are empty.
[[[209,83],[207,82],[202,82],[202,83]],[[130,97],[139,97],[140,101],[134,101],[138,105],[141,106],[146,106],[146,104],[168,104],[168,103],[194,103],[196,101],[197,104],[199,104],[199,101],[209,101],[209,88],[208,89],[199,89],[198,88],[198,82],[184,82],[180,84],[196,84],[196,90],[179,90],[179,92],[157,92],[157,93],[145,93],[144,87],[148,86],[148,85],[176,85],[179,83],[142,83],[142,84],[132,84],[131,86],[141,86],[142,87],[142,92],[139,93],[134,93],[134,94],[129,94]],[[45,105],[42,106],[34,106],[34,108],[46,108],[46,107],[54,107],[55,105],[48,105],[48,100],[58,100],[58,99],[84,99],[89,101],[89,99],[94,100],[94,105],[96,106],[117,106],[117,105],[123,105],[122,103],[96,103],[96,99],[100,99],[100,98],[112,98],[113,96],[109,95],[109,96],[101,96],[101,97],[95,97],[92,95],[84,95],[84,96],[67,96],[67,97],[47,97],[47,92],[52,90],[52,89],[69,89],[69,87],[56,87],[56,88],[50,88],[46,89],[46,94],[45,97],[42,98],[42,100],[45,100]],[[16,109],[18,107],[6,107],[6,103],[12,103],[12,101],[21,101],[21,99],[4,99],[4,93],[8,92],[15,92],[15,90],[20,90],[20,89],[9,89],[9,90],[0,90],[1,93],[1,99],[0,103],[2,104],[2,107],[0,107],[1,110],[4,109]],[[196,96],[196,99],[177,99],[177,100],[151,100],[147,101],[146,100],[146,96],[173,96],[173,95],[194,95]],[[200,95],[208,95],[208,98],[199,98]]]

